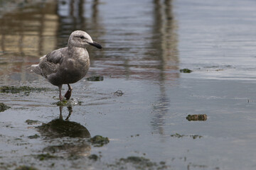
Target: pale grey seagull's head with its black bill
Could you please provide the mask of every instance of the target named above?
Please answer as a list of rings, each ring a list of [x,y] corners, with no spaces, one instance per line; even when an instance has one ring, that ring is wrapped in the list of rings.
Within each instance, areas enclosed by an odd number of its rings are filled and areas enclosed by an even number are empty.
[[[75,30],[73,33],[71,33],[70,38],[68,39],[69,47],[86,48],[88,45],[102,49],[102,46],[99,43],[93,41],[90,35],[82,30]]]

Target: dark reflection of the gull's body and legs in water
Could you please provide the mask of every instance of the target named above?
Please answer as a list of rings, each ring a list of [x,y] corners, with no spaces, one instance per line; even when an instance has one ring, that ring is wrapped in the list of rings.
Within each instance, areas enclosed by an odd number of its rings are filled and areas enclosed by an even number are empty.
[[[87,142],[90,132],[80,123],[69,121],[72,106],[68,106],[68,116],[63,120],[63,106],[60,106],[60,116],[49,123],[38,126],[38,131],[50,145],[43,152],[60,154],[62,157],[86,157],[90,155],[91,146]]]

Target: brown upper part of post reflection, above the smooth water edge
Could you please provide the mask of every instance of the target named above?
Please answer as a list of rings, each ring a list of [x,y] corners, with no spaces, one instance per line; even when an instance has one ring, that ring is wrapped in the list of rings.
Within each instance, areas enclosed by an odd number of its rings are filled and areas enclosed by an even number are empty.
[[[176,21],[171,6],[172,1],[154,0],[154,23],[152,25],[151,42],[146,52],[148,60],[159,60],[159,81],[175,79],[178,72],[178,37]]]

